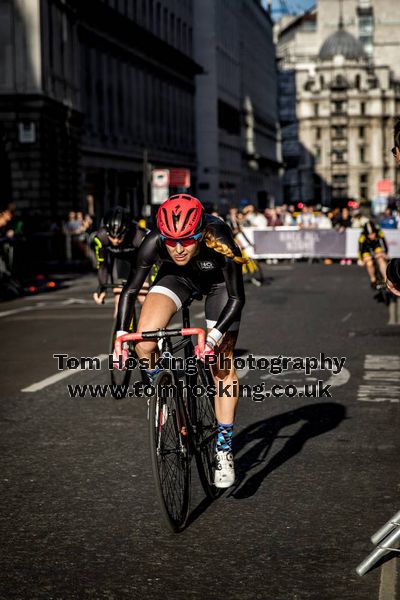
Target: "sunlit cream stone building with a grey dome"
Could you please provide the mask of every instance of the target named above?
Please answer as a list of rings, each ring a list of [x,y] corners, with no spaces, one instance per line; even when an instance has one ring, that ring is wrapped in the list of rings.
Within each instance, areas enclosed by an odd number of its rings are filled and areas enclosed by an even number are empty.
[[[400,4],[388,9],[385,0],[348,0],[340,14],[338,1],[319,0],[278,27],[287,201],[370,200],[378,181],[397,186],[390,148],[400,114]]]

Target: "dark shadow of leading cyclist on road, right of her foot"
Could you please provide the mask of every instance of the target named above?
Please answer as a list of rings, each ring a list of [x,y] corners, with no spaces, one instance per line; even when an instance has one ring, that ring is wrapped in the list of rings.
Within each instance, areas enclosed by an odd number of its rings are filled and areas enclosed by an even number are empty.
[[[229,496],[237,500],[253,496],[265,477],[298,454],[307,440],[335,429],[345,418],[346,409],[342,404],[309,404],[258,421],[240,431],[234,438],[237,480],[230,489]],[[305,423],[295,433],[279,435],[285,427],[302,421]],[[287,439],[287,442],[267,461],[268,454],[278,439]],[[254,470],[256,472],[253,473]]]

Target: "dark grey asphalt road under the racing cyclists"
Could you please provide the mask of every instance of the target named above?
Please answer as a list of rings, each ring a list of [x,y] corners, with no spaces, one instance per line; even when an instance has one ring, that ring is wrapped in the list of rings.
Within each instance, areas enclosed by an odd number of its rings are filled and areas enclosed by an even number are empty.
[[[58,373],[54,353],[108,352],[112,306],[91,302],[94,278],[0,305],[0,598],[400,598],[396,558],[355,573],[400,509],[400,326],[358,267],[267,274],[246,288],[241,355],[324,353],[346,357],[344,369],[243,373],[249,384],[329,380],[332,398],[242,399],[237,483],[209,505],[194,478],[179,535],[154,496],[143,400],[69,397],[68,383],[107,383],[105,368],[22,391]]]

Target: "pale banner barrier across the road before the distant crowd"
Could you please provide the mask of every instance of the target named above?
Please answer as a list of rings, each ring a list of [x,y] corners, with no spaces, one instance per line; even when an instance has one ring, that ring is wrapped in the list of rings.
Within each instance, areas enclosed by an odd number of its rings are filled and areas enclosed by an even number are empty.
[[[358,258],[361,229],[299,229],[294,227],[244,227],[253,247],[252,258]],[[400,230],[384,229],[390,258],[400,258]]]

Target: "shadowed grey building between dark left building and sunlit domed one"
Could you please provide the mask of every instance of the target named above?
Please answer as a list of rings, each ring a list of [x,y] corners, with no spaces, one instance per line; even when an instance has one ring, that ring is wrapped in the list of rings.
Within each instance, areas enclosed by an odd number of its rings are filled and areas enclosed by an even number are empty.
[[[198,193],[222,209],[281,199],[272,21],[257,0],[194,0]]]

